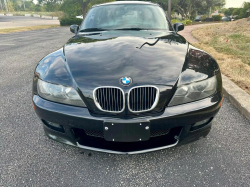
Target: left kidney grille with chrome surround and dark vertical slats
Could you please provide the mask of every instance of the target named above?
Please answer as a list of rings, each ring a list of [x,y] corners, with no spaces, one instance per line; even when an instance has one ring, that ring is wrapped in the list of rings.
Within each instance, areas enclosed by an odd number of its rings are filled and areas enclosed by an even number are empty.
[[[97,87],[93,91],[93,99],[97,108],[103,112],[120,113],[125,110],[125,94],[119,87]]]

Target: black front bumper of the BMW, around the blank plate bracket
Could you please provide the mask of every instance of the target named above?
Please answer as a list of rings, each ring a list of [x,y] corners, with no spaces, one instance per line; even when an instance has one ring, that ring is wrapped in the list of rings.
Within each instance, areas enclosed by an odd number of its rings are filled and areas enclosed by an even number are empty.
[[[160,116],[133,119],[94,117],[87,108],[50,102],[37,95],[33,96],[33,104],[36,114],[44,123],[45,133],[54,140],[89,150],[138,154],[186,144],[205,137],[210,132],[212,120],[220,109],[222,98],[222,95],[217,93],[200,101],[167,107]],[[200,128],[192,130],[194,124],[206,119],[209,119],[206,124],[201,124]],[[141,123],[143,121],[150,122],[151,132],[154,133],[148,141],[107,142],[102,137],[105,122]],[[59,124],[61,129],[53,128],[47,122]],[[166,130],[170,131],[161,134]]]

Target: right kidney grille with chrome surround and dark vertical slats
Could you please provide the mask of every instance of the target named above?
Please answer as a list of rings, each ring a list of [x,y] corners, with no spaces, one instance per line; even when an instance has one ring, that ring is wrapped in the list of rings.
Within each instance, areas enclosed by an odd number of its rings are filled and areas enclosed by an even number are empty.
[[[137,91],[132,92],[133,90]],[[136,86],[131,88],[128,92],[129,111],[133,113],[141,113],[153,110],[158,104],[160,97],[159,93],[160,93],[159,88],[151,85]],[[150,97],[150,98],[144,98],[144,97]],[[131,103],[130,103],[130,98],[132,101]],[[138,99],[140,99],[140,102],[138,102],[139,101]]]

